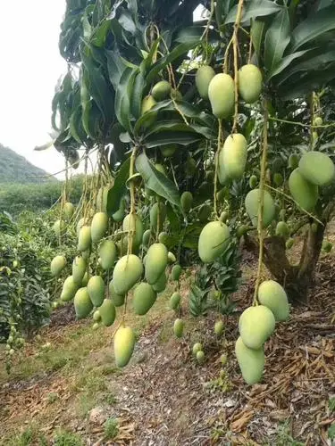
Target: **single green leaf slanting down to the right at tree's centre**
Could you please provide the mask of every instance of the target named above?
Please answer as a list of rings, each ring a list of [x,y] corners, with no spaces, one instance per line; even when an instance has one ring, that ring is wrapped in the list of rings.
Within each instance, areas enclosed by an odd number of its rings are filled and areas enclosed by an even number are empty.
[[[136,169],[143,178],[146,186],[155,194],[166,198],[166,200],[180,207],[180,194],[171,179],[166,178],[163,173],[155,169],[154,164],[149,161],[146,153],[140,153],[136,159]]]

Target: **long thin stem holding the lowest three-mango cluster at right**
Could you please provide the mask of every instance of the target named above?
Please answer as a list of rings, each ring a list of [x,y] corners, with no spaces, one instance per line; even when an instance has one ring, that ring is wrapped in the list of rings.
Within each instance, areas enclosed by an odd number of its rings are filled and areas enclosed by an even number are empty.
[[[262,275],[263,267],[263,252],[264,252],[264,236],[263,236],[263,209],[264,209],[264,186],[266,178],[266,159],[267,159],[267,126],[268,126],[268,104],[264,99],[264,127],[263,127],[263,146],[262,146],[262,160],[261,160],[261,178],[259,182],[259,194],[258,194],[258,221],[257,221],[257,233],[259,241],[259,253],[258,253],[258,267],[257,277],[255,279],[255,292],[253,305],[257,305],[257,292]]]

